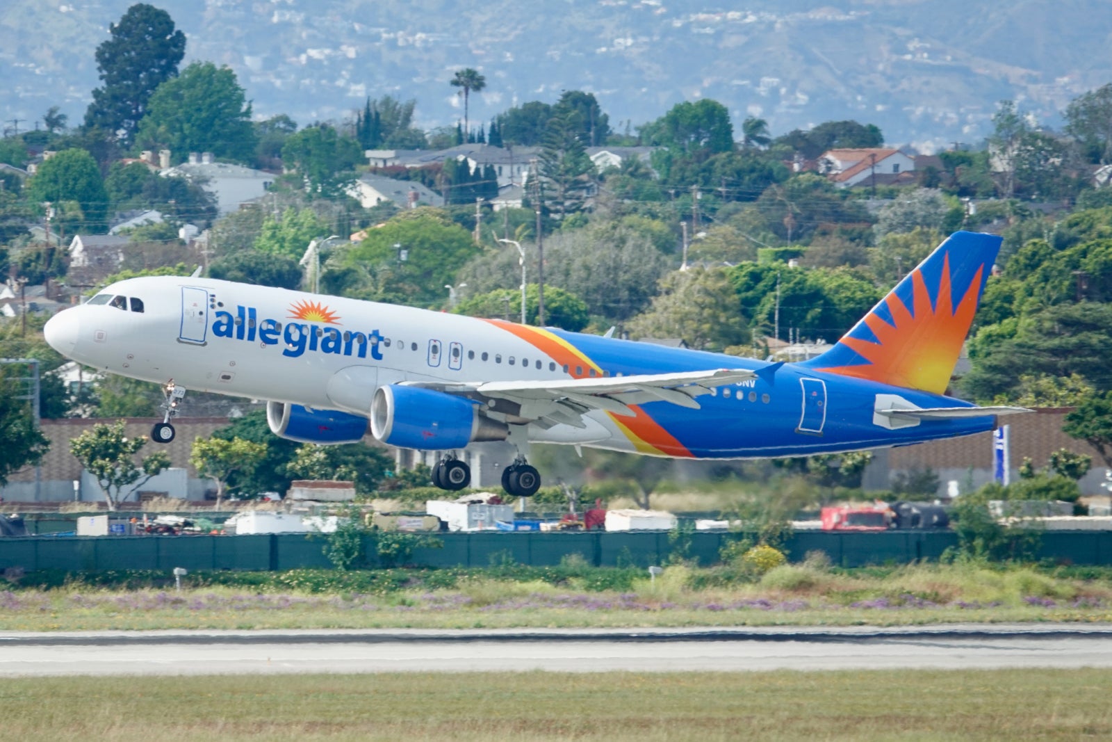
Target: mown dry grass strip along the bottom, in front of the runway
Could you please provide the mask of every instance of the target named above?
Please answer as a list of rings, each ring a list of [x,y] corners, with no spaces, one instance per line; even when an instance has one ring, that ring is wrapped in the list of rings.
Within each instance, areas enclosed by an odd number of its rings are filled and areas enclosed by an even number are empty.
[[[1110,739],[1110,670],[19,679],[0,739]]]

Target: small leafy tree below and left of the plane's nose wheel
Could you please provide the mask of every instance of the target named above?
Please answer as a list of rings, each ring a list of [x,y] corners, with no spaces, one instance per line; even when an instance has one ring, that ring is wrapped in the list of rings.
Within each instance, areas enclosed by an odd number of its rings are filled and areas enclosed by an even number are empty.
[[[135,455],[147,445],[147,436],[128,438],[123,427],[123,421],[98,424],[70,441],[70,453],[97,478],[110,511],[117,509],[125,495],[170,466],[170,457],[162,451],[136,465]]]

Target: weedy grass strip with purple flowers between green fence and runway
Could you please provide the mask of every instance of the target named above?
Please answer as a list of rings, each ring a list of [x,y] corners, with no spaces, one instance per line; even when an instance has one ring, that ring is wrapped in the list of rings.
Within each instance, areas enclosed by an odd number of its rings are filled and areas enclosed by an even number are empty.
[[[589,574],[589,573],[585,573]],[[1029,567],[919,565],[855,571],[786,565],[723,584],[708,571],[668,567],[655,582],[602,588],[430,572],[389,586],[374,573],[288,573],[258,585],[105,588],[83,583],[0,591],[0,630],[498,629],[514,626],[903,625],[1112,621],[1112,582]],[[254,577],[252,577],[254,578]],[[268,577],[269,578],[269,577]],[[434,584],[435,583],[435,584]],[[439,586],[437,586],[439,585]]]

